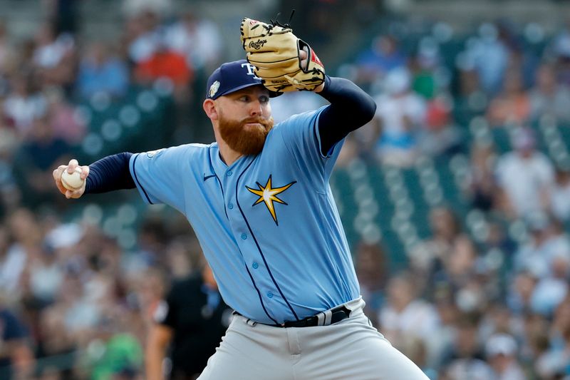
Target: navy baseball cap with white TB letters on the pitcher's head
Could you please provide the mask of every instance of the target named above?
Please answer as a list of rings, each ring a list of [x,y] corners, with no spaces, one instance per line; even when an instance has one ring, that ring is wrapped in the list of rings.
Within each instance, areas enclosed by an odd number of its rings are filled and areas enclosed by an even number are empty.
[[[263,86],[263,83],[261,83],[261,78],[255,75],[254,66],[245,59],[240,59],[239,61],[224,63],[214,70],[208,78],[206,98],[217,99],[242,88],[259,85]],[[269,91],[270,98],[279,95],[281,93]]]

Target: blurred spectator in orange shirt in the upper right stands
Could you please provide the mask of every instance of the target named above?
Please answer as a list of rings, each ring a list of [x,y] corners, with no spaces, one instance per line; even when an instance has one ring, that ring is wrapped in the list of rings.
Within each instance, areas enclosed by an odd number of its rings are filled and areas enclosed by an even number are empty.
[[[520,71],[516,68],[507,71],[503,90],[489,104],[489,124],[497,127],[508,123],[521,125],[529,120],[530,112],[529,95],[524,90]]]

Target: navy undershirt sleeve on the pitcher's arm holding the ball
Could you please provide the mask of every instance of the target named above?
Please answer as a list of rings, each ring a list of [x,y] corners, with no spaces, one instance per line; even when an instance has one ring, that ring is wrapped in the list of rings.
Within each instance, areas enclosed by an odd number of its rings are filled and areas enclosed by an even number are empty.
[[[130,175],[129,160],[133,153],[108,155],[89,165],[85,192],[95,194],[121,189],[135,188],[135,181]]]

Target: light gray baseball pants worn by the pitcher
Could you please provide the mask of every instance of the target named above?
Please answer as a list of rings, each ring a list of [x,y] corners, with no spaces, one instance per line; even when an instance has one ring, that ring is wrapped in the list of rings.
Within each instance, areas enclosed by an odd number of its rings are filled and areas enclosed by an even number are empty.
[[[351,316],[328,326],[271,327],[234,316],[198,380],[427,379],[371,326],[361,298],[345,305]]]

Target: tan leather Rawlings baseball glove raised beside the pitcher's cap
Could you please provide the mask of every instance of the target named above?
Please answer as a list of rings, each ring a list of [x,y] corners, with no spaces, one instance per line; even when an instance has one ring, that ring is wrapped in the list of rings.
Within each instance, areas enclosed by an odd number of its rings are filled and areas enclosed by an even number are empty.
[[[323,63],[311,46],[297,38],[288,25],[245,18],[240,30],[247,61],[255,66],[255,75],[270,91],[314,91],[325,80]],[[301,66],[301,51],[307,54],[304,67]]]

